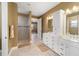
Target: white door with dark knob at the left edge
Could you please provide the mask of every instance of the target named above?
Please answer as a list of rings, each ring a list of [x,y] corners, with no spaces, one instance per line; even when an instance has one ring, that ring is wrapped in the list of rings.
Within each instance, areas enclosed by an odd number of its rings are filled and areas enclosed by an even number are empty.
[[[1,3],[2,11],[2,55],[8,55],[8,3]]]

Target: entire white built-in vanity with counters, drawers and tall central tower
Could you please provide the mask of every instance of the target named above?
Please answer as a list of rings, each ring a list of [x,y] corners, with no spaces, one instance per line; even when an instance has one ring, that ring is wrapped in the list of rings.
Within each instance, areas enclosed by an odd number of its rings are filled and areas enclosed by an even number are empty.
[[[60,56],[79,56],[79,36],[66,34],[65,12],[59,10],[52,16],[53,31],[43,33],[43,43]]]

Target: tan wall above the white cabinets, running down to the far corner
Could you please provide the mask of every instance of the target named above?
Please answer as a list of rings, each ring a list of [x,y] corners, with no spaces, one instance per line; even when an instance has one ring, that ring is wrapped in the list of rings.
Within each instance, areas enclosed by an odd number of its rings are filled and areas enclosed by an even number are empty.
[[[53,14],[55,11],[59,9],[66,10],[67,8],[72,9],[73,6],[79,6],[79,2],[62,2],[58,4],[56,7],[50,9],[47,11],[44,15],[41,17],[43,18],[43,32],[48,32],[48,23],[46,17],[50,14]]]

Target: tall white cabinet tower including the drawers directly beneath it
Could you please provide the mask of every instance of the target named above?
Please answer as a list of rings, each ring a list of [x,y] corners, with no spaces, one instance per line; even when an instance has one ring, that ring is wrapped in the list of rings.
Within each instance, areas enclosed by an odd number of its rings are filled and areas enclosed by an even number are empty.
[[[60,37],[63,34],[63,19],[64,19],[64,11],[59,10],[55,13],[53,13],[53,33],[52,36],[54,36],[54,44],[53,49],[56,53],[59,55],[65,55],[65,43],[64,40]]]

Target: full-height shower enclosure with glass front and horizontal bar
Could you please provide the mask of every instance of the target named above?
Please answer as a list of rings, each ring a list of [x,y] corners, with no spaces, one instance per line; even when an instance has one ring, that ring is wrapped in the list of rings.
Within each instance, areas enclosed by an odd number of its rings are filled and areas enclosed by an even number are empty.
[[[18,45],[29,43],[29,18],[23,15],[18,16]]]

